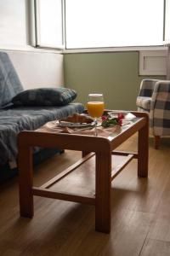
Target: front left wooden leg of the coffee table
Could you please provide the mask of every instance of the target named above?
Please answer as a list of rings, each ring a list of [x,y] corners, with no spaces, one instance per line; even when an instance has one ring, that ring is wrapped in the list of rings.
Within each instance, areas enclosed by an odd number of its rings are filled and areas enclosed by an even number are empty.
[[[19,184],[20,184],[20,216],[32,218],[32,152],[31,148],[19,148]]]

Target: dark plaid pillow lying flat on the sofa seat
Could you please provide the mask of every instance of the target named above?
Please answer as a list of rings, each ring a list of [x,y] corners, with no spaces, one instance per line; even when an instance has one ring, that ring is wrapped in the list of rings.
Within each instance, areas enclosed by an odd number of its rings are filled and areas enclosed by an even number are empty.
[[[23,90],[14,96],[15,106],[65,106],[77,97],[76,90],[65,87]]]

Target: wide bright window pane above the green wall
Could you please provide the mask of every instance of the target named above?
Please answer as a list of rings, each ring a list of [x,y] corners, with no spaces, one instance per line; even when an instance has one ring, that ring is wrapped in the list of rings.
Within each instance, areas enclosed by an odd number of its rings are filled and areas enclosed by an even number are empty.
[[[65,0],[66,48],[161,45],[163,0]]]

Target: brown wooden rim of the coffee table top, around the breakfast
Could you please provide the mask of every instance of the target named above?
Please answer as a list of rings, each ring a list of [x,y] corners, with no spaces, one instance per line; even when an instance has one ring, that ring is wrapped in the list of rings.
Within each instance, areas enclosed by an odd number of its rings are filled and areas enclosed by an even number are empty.
[[[89,134],[56,132],[56,129],[44,129],[42,126],[36,131],[21,131],[19,135],[20,145],[38,146],[38,147],[59,147],[72,150],[87,150],[89,152],[113,150],[121,143],[131,137],[136,131],[139,131],[144,125],[148,125],[148,114],[133,112],[136,118],[127,125],[116,125],[112,128],[103,128],[108,133],[106,136],[94,136]],[[113,130],[112,130],[113,129]],[[109,130],[109,131],[108,131]],[[106,149],[107,148],[107,149]]]

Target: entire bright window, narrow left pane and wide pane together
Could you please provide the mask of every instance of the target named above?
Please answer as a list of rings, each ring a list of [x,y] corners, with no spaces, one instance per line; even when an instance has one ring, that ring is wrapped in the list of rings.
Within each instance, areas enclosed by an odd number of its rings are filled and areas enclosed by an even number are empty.
[[[40,47],[63,49],[66,44],[66,49],[83,49],[170,42],[170,0],[31,1],[35,2]]]

